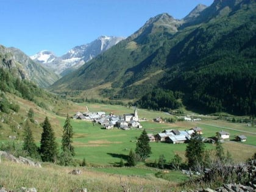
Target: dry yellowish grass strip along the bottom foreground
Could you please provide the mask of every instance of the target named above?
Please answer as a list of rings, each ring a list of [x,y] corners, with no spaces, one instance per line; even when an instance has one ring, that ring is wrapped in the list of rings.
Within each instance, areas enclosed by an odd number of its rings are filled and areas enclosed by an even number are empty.
[[[167,191],[176,183],[166,180],[143,177],[127,177],[79,168],[79,176],[69,174],[74,167],[61,167],[43,163],[42,168],[21,165],[3,160],[0,163],[0,185],[8,190],[18,191],[21,187],[35,187],[37,191],[70,191],[74,188],[87,188],[88,191],[123,191],[122,185],[131,191]],[[157,190],[156,190],[157,189]]]

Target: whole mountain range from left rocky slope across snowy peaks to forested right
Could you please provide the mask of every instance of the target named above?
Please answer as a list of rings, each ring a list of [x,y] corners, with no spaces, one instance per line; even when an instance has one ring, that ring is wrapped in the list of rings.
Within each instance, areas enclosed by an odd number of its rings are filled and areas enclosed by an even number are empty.
[[[99,37],[62,57],[42,51],[33,61],[1,46],[0,62],[20,79],[76,101],[255,116],[255,7],[255,1],[215,0],[182,20],[162,13],[127,38]]]

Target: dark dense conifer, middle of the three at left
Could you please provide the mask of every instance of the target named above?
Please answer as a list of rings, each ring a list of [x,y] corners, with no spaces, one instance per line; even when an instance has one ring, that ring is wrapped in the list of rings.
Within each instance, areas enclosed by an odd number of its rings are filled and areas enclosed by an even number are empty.
[[[57,143],[54,131],[49,123],[48,117],[43,122],[43,132],[41,133],[40,154],[43,162],[55,162],[57,158]]]

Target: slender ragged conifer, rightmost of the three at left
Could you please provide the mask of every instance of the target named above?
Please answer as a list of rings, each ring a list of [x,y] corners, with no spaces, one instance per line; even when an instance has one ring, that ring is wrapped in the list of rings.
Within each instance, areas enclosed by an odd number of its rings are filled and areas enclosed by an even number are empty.
[[[75,152],[74,152],[74,147],[71,145],[73,143],[72,138],[73,138],[73,127],[70,124],[70,118],[68,114],[66,115],[66,121],[63,126],[63,135],[62,135],[62,150],[68,150],[71,155],[74,157]]]

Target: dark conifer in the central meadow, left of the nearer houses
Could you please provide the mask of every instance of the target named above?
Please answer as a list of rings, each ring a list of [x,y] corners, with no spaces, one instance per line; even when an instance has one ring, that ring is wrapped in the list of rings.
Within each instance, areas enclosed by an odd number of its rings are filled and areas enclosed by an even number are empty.
[[[143,161],[152,153],[151,146],[149,145],[149,138],[145,129],[138,138],[135,152]]]

